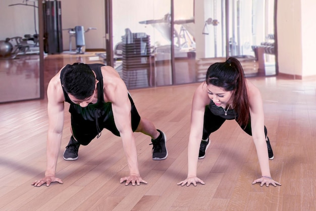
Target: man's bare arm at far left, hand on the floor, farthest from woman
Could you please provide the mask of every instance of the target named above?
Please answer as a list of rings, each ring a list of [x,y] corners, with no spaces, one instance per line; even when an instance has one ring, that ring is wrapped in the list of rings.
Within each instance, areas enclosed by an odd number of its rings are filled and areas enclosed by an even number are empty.
[[[45,177],[35,181],[32,185],[41,186],[51,182],[63,183],[55,177],[57,160],[62,141],[64,127],[64,95],[59,77],[50,80],[47,88],[47,112],[48,112],[48,133],[46,142],[46,171]]]

